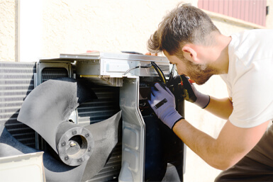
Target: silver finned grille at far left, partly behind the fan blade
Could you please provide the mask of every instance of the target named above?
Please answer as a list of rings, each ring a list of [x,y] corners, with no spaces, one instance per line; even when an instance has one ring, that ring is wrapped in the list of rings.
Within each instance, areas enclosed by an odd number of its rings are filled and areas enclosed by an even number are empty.
[[[35,63],[0,62],[0,123],[19,142],[35,148],[35,131],[17,121],[23,100],[34,89]]]

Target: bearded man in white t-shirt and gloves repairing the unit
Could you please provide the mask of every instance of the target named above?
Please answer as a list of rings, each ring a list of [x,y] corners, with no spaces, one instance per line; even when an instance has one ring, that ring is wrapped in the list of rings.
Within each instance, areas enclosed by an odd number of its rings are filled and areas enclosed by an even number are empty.
[[[223,171],[216,181],[273,181],[273,31],[247,30],[222,35],[194,6],[167,14],[148,41],[150,52],[163,52],[178,74],[204,84],[221,74],[229,98],[200,93],[196,104],[227,119],[218,138],[197,130],[175,110],[169,89],[155,84],[150,106],[174,133],[204,161]],[[162,106],[157,105],[165,100]],[[167,101],[167,102],[166,102]]]

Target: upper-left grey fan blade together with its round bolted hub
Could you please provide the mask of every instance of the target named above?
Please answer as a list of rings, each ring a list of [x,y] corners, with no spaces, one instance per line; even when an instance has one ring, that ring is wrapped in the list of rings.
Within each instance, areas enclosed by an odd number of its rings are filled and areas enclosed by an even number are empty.
[[[26,97],[17,120],[38,132],[65,164],[77,166],[89,159],[94,140],[84,127],[67,120],[79,104],[93,98],[95,93],[76,79],[48,80]],[[82,146],[77,138],[82,138]]]

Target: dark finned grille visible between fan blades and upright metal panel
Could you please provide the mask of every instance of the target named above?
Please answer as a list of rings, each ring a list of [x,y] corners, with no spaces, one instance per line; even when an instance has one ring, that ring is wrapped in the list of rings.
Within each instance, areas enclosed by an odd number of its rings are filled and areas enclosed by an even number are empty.
[[[82,126],[106,120],[120,110],[118,87],[93,86],[92,90],[98,99],[78,107],[79,125]],[[89,181],[118,181],[118,174],[121,171],[121,135],[118,141],[104,168]]]

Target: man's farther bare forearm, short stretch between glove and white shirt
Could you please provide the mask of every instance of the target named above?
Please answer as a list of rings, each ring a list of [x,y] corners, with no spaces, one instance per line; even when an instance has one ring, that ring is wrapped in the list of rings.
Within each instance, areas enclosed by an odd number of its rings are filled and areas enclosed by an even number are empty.
[[[213,98],[211,96],[211,100],[205,110],[219,118],[228,120],[230,114],[233,112],[233,103],[229,98]]]

